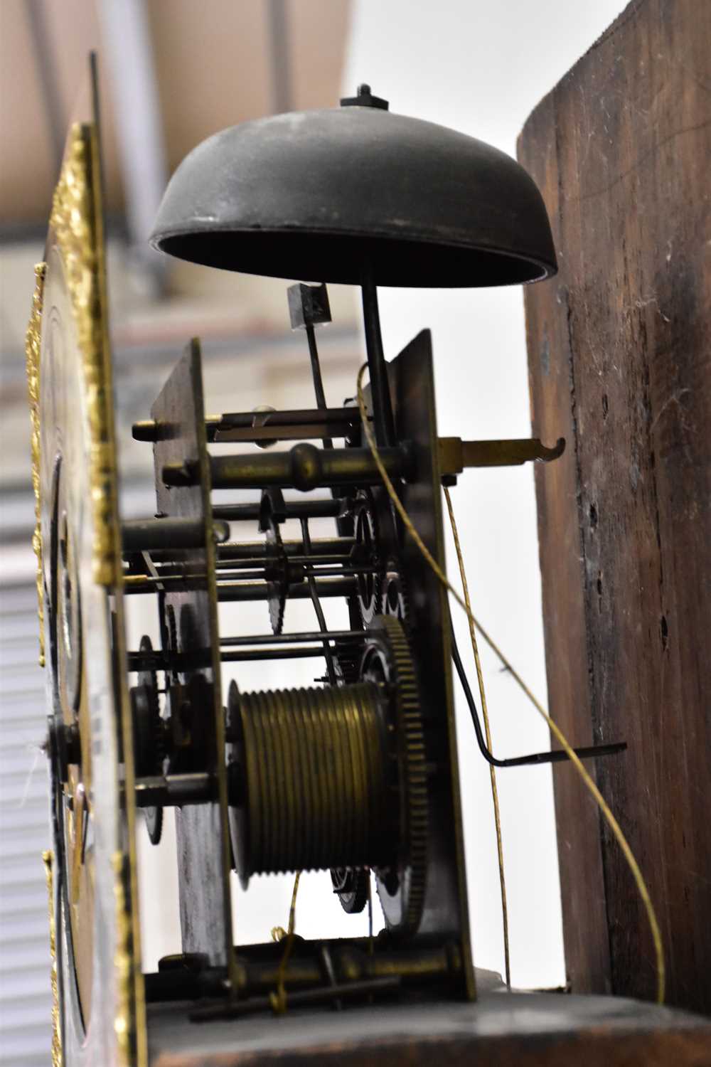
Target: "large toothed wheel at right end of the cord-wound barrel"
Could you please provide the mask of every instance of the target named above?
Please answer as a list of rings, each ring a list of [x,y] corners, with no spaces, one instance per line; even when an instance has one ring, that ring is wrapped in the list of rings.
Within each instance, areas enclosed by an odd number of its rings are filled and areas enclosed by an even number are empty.
[[[397,864],[375,870],[377,893],[391,934],[417,933],[424,905],[427,869],[427,779],[417,678],[402,624],[377,616],[360,666],[363,681],[389,686],[395,705],[401,855]]]

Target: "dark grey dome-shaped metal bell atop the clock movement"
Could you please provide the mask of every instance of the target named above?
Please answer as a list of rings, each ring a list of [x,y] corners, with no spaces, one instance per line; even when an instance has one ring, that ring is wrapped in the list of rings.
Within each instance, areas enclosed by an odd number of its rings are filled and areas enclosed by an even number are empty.
[[[535,182],[510,156],[387,110],[348,105],[215,133],[165,191],[153,248],[305,282],[489,286],[555,273]]]

